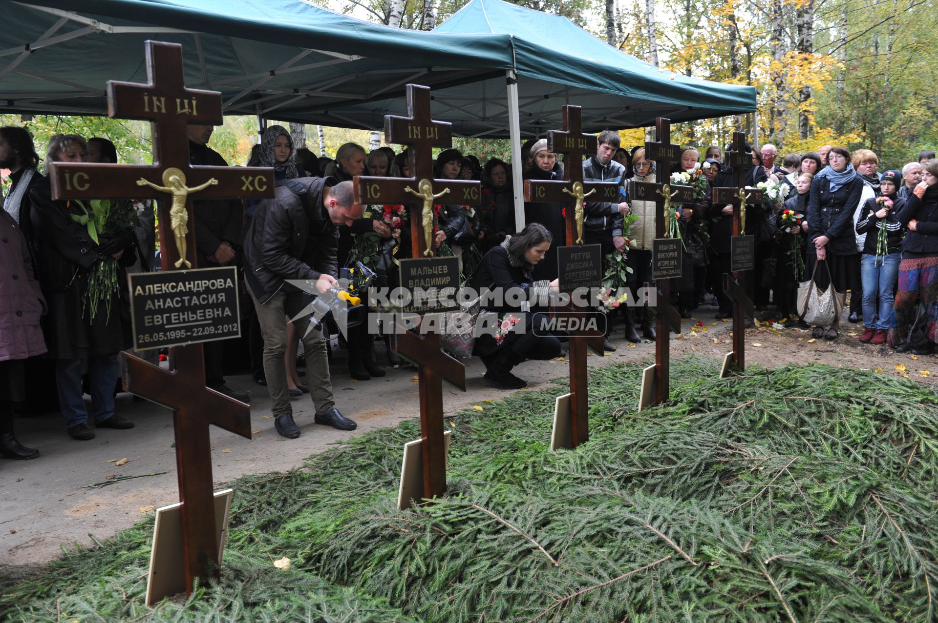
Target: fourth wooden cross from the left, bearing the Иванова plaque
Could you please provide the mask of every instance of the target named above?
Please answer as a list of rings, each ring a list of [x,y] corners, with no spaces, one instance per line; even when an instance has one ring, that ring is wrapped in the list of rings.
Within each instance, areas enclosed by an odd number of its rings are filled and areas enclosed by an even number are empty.
[[[629,184],[631,200],[646,200],[656,202],[655,215],[655,245],[670,244],[672,253],[677,254],[673,260],[673,276],[681,274],[681,245],[674,242],[671,237],[671,223],[675,218],[674,203],[693,203],[693,188],[683,185],[671,185],[671,163],[681,159],[681,146],[671,142],[671,120],[658,117],[655,120],[655,136],[658,141],[645,142],[645,159],[654,160],[656,165],[658,183],[632,182]],[[653,267],[665,263],[657,256],[658,249],[653,249]],[[653,271],[654,272],[654,271]],[[681,316],[671,305],[671,278],[658,279],[657,313],[655,316],[655,365],[645,369],[642,381],[642,398],[639,408],[653,407],[669,400],[671,396],[671,334],[681,333]],[[648,287],[648,284],[645,284]]]

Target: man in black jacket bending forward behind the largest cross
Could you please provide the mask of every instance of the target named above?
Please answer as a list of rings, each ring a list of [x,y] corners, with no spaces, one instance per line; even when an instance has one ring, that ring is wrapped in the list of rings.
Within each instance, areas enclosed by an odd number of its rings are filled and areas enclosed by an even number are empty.
[[[339,226],[361,217],[364,206],[353,199],[352,182],[333,177],[300,177],[277,183],[276,197],[261,201],[245,235],[245,281],[264,336],[264,372],[273,402],[274,426],[281,436],[299,437],[287,390],[283,356],[287,348],[286,316],[302,335],[315,422],[340,430],[356,423],[342,416],[332,397],[323,332],[310,328],[309,316],[295,318],[310,303],[310,294],[287,279],[315,282],[319,292],[336,288],[339,274]]]

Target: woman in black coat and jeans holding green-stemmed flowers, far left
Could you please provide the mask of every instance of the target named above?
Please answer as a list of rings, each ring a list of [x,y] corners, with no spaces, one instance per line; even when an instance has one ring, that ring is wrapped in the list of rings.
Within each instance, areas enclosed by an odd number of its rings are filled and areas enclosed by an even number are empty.
[[[86,142],[55,135],[46,162],[84,162]],[[40,285],[49,306],[43,325],[49,356],[55,359],[59,408],[68,434],[95,437],[84,406],[82,375],[87,369],[98,428],[133,428],[114,414],[117,353],[129,346],[119,283],[133,263],[133,204],[130,201],[53,200],[49,178],[29,193],[38,244]],[[128,315],[129,316],[129,315]]]

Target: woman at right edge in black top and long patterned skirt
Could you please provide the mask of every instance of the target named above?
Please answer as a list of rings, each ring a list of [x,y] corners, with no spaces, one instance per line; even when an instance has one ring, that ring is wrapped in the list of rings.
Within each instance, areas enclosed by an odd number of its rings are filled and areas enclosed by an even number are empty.
[[[938,160],[922,163],[922,181],[896,216],[909,232],[902,241],[896,326],[889,329],[889,346],[930,354],[938,340]],[[919,302],[922,310],[916,318]]]

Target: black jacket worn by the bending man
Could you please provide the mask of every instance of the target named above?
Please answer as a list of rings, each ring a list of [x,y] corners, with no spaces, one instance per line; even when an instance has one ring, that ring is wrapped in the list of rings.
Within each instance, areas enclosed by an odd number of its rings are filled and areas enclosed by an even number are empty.
[[[326,185],[336,185],[335,178],[279,182],[277,196],[257,206],[244,241],[245,281],[262,304],[284,279],[339,276],[339,230],[323,205]]]

